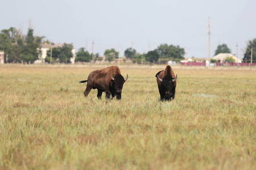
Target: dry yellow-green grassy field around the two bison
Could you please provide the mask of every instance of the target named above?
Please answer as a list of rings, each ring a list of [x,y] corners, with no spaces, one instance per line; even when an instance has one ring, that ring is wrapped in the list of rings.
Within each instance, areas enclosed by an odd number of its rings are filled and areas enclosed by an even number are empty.
[[[106,66],[0,66],[0,169],[256,169],[256,69],[120,66],[122,100],[84,98]]]

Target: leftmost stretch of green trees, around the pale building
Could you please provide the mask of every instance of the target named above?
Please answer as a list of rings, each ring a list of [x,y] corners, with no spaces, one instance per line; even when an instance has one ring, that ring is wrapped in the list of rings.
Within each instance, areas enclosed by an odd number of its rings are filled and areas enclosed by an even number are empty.
[[[0,50],[5,52],[5,61],[12,63],[33,63],[40,59],[41,44],[50,44],[45,37],[34,36],[34,29],[28,28],[27,35],[23,35],[18,29],[11,27],[3,29],[0,33]],[[73,45],[64,44],[52,49],[52,61],[69,63],[73,57]],[[47,51],[46,62],[50,62],[50,50]]]

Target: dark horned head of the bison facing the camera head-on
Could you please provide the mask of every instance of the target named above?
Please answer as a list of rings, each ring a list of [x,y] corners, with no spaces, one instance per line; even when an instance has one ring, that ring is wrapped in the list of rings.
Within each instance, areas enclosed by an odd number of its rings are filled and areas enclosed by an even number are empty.
[[[177,80],[177,74],[176,78],[172,78],[171,75],[164,76],[163,79],[160,79],[157,75],[157,78],[160,82],[162,82],[162,90],[164,91],[164,96],[166,96],[166,99],[169,99],[174,96],[174,82]]]

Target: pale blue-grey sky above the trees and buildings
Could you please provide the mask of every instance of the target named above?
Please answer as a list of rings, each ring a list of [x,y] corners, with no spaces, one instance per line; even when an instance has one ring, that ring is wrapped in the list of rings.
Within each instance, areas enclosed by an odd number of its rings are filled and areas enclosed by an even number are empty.
[[[186,48],[187,57],[208,58],[219,44],[227,44],[243,58],[246,43],[256,38],[255,0],[1,0],[0,30],[22,28],[29,20],[35,36],[86,46],[102,56],[106,49],[123,52],[133,45],[147,53],[160,44]],[[86,45],[87,44],[87,45]]]

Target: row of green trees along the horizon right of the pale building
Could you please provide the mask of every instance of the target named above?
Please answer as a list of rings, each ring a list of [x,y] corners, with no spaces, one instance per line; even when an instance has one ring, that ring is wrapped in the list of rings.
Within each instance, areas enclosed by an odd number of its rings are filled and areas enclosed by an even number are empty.
[[[250,61],[251,55],[251,48],[253,48],[253,62],[256,62],[256,39],[249,41],[248,46],[246,48],[246,53],[243,57],[243,62]],[[228,48],[228,45],[221,44],[217,46],[215,50],[214,56],[220,53],[231,53],[231,50]],[[168,45],[168,44],[160,44],[158,48],[149,51],[148,53],[138,53],[137,50],[133,48],[127,48],[125,50],[125,57],[126,59],[130,59],[134,63],[142,63],[144,61],[150,63],[166,63],[167,61],[176,61],[180,62],[184,59],[185,50],[184,48],[180,48],[179,45]],[[104,52],[105,60],[106,61],[114,61],[119,56],[119,53],[115,51],[115,49],[106,49]],[[85,48],[80,48],[79,52],[76,53],[76,60],[77,62],[90,62],[91,60],[98,60],[101,61],[103,58],[97,54],[90,54],[88,51],[85,51]],[[211,59],[212,62],[214,59]],[[228,62],[235,62],[232,57],[226,59]]]

